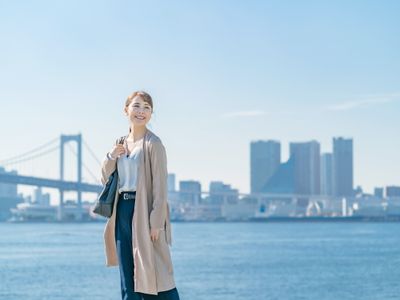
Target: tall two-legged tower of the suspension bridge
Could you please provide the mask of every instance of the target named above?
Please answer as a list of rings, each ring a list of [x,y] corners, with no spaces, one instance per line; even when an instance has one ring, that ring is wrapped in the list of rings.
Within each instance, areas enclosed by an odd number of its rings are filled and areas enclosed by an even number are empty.
[[[60,180],[64,180],[64,145],[68,142],[76,142],[77,143],[77,170],[78,170],[78,178],[77,183],[78,186],[82,183],[82,134],[77,135],[61,135],[60,139]],[[64,190],[62,188],[60,190],[60,205],[58,208],[58,220],[63,219],[63,212],[64,212]],[[77,190],[78,192],[78,205],[77,205],[77,219],[80,220],[82,218],[82,191],[80,188]]]

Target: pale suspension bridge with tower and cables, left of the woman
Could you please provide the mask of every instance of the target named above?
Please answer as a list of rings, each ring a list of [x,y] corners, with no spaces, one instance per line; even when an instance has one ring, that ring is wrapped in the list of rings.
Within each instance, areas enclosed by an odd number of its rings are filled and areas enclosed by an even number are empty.
[[[71,143],[76,144],[77,151],[71,146]],[[76,158],[76,181],[65,180],[66,171],[66,147],[70,150],[73,156]],[[101,166],[100,160],[94,154],[94,151],[89,145],[83,140],[81,134],[77,135],[64,135],[54,138],[43,145],[35,147],[29,151],[18,154],[16,156],[0,160],[0,166],[8,168],[19,169],[19,166],[23,163],[37,161],[48,157],[52,153],[59,152],[59,178],[46,178],[38,177],[34,174],[17,174],[17,172],[4,172],[0,173],[0,183],[11,184],[11,185],[27,185],[36,187],[52,188],[59,191],[60,201],[58,205],[58,219],[63,218],[63,208],[65,206],[65,192],[76,192],[76,208],[77,211],[82,211],[82,193],[100,193],[102,185],[99,181],[98,175],[94,175],[93,172],[85,165],[82,160],[82,148],[85,147],[87,153]],[[86,152],[85,152],[86,153]],[[54,156],[54,154],[53,154]],[[69,165],[68,165],[69,166]],[[84,182],[82,177],[82,170],[85,168],[86,173],[92,177],[94,183]],[[34,171],[33,171],[34,172]],[[97,195],[96,195],[97,196]],[[81,215],[77,216],[80,219]]]

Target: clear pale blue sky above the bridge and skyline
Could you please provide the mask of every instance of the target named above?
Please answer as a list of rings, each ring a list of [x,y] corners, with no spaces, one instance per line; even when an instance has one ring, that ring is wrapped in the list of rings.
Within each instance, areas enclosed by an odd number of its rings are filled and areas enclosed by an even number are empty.
[[[399,185],[399,11],[398,1],[3,1],[0,160],[78,132],[101,158],[128,128],[127,95],[144,89],[177,180],[249,192],[251,141],[280,140],[286,160],[290,141],[326,152],[344,136],[355,185]],[[58,178],[58,154],[16,168]]]

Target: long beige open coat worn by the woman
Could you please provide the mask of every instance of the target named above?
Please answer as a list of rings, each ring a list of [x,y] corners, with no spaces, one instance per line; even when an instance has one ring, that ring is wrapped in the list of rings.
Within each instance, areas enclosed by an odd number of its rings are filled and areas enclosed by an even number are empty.
[[[147,128],[138,165],[135,211],[132,220],[134,287],[136,292],[156,295],[175,287],[169,246],[172,246],[169,205],[167,201],[167,156],[160,138]],[[106,183],[116,168],[116,160],[106,156],[102,162],[101,181]],[[119,186],[119,185],[118,185]],[[115,216],[118,189],[113,214],[104,229],[106,266],[118,266],[115,244]],[[157,241],[150,239],[150,229],[159,228]]]

